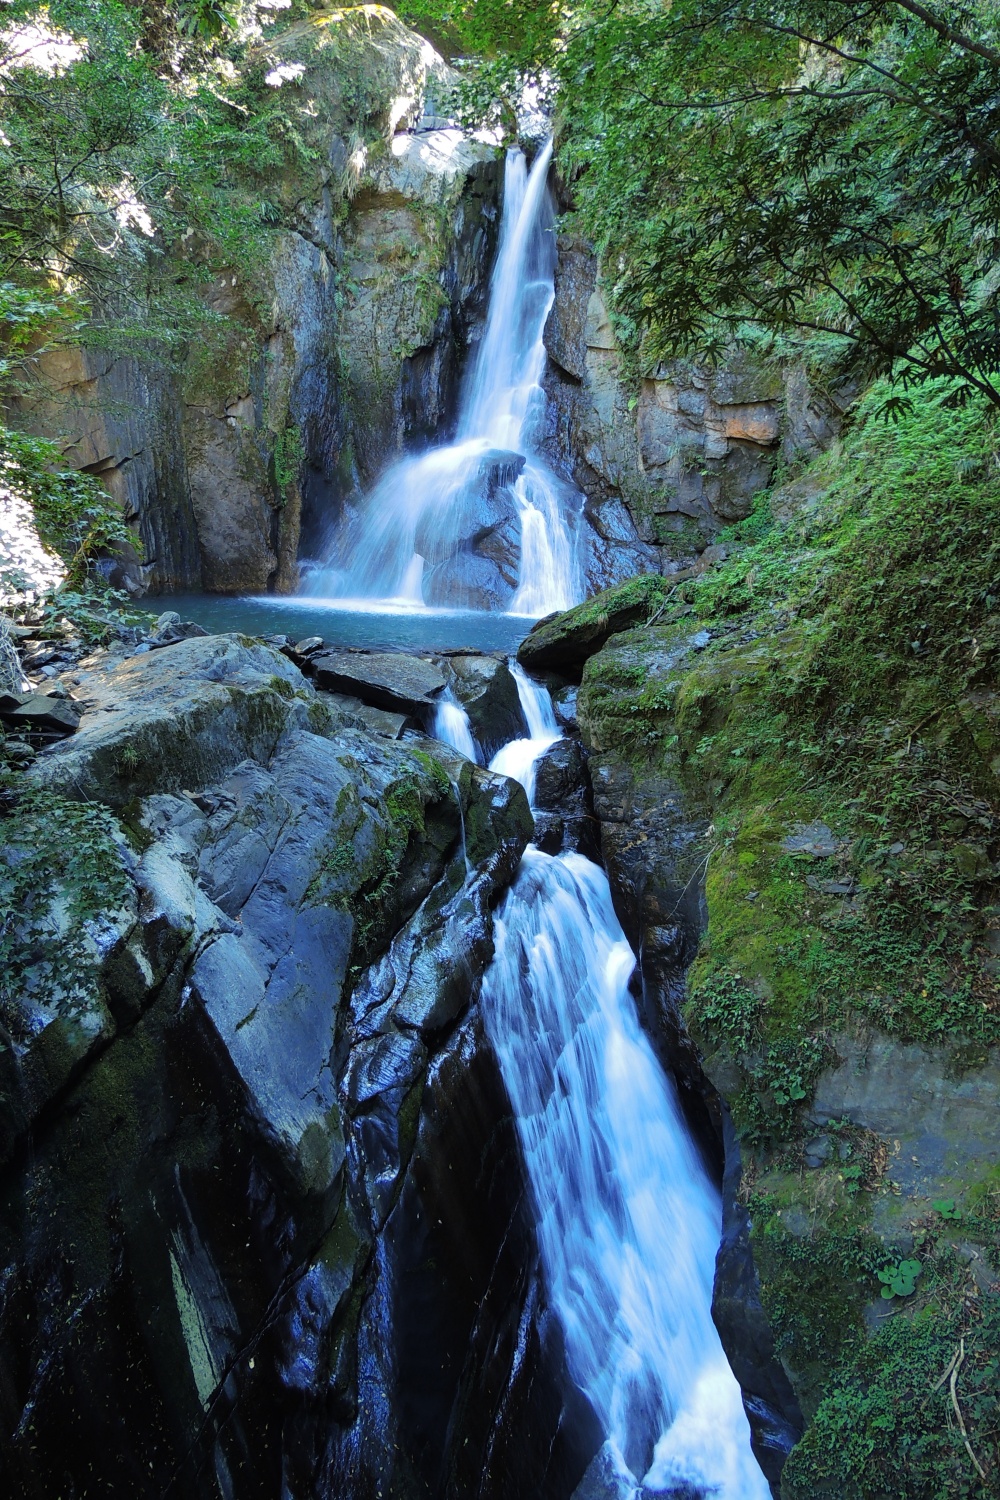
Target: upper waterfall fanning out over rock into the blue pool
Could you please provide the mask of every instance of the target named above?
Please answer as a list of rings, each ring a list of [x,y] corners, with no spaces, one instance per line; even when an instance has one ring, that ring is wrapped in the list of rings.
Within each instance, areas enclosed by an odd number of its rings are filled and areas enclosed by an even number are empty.
[[[582,496],[534,453],[555,297],[549,142],[510,150],[486,333],[457,440],[393,465],[346,518],[306,591],[351,608],[477,608],[540,616],[583,597]]]

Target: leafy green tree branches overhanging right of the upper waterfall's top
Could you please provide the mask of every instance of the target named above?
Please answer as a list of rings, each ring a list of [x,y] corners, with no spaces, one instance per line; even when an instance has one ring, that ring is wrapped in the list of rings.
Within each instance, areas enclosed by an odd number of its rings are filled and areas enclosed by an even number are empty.
[[[469,106],[555,76],[564,174],[643,360],[805,348],[1000,405],[1000,50],[990,0],[598,0],[406,12],[484,60]],[[492,102],[490,102],[492,87]],[[901,416],[894,393],[886,417]]]

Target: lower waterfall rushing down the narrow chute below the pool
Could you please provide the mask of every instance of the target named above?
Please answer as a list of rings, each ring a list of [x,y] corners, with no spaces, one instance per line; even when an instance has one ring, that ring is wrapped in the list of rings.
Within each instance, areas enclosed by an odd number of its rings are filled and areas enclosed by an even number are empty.
[[[528,747],[556,738],[555,716],[543,688],[519,678],[519,690],[532,738],[493,768],[516,764],[531,796]],[[604,1432],[601,1492],[768,1500],[712,1322],[720,1198],[639,1024],[606,874],[529,846],[495,942],[484,1024],[568,1370]]]

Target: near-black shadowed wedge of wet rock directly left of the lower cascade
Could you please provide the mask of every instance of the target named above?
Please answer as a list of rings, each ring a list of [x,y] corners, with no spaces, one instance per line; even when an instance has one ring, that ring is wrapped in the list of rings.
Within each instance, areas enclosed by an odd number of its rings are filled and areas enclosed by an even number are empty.
[[[430,1064],[361,1312],[355,1418],[295,1497],[570,1496],[600,1443],[546,1305],[514,1122],[472,1011]],[[372,1400],[373,1392],[379,1400]]]

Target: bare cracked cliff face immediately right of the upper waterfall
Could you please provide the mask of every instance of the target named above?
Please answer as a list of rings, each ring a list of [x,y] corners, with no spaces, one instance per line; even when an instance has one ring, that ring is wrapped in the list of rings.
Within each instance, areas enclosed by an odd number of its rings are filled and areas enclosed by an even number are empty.
[[[559,238],[546,348],[549,452],[586,496],[607,584],[649,566],[639,543],[664,562],[702,550],[750,513],[780,454],[816,453],[840,428],[841,406],[811,390],[804,370],[741,354],[715,370],[675,362],[631,380],[597,258],[574,236]],[[850,393],[841,394],[846,405]]]

